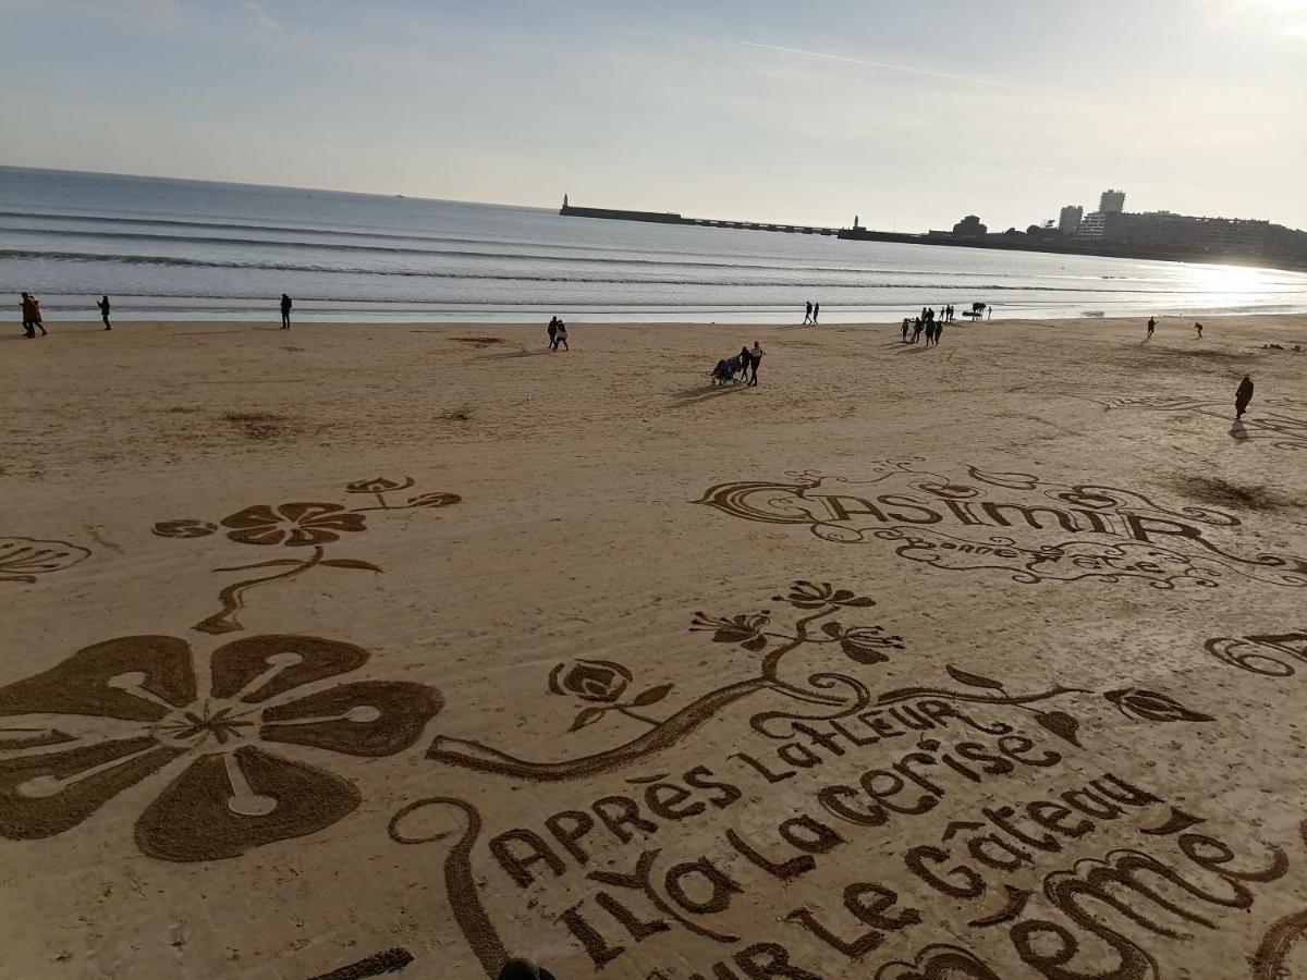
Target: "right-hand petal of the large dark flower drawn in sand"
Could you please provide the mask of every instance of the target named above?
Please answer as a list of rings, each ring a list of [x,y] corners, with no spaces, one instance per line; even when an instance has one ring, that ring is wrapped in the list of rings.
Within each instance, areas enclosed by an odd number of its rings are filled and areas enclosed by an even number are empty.
[[[259,737],[348,755],[392,755],[422,737],[443,703],[439,691],[420,683],[342,683],[268,708]]]

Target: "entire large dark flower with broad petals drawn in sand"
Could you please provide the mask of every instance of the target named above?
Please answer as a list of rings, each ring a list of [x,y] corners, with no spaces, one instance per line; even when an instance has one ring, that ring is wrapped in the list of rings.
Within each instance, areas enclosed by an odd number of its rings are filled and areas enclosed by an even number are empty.
[[[0,717],[18,725],[0,728],[0,835],[63,834],[163,775],[136,821],[152,857],[216,861],[322,831],[362,797],[301,757],[393,755],[442,706],[420,683],[336,681],[367,659],[348,643],[271,635],[197,661],[173,636],[119,636],[0,687]]]

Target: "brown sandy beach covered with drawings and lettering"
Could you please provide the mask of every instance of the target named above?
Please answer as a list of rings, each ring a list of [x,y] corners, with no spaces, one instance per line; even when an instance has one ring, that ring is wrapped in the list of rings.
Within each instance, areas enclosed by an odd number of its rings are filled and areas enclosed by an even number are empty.
[[[0,976],[1307,976],[1307,318],[50,328]]]

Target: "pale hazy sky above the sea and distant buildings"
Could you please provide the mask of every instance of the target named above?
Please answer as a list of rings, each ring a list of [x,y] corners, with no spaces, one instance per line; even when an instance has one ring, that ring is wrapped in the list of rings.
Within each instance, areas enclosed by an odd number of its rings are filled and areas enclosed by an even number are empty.
[[[1307,227],[1307,0],[0,0],[0,162],[992,229]]]

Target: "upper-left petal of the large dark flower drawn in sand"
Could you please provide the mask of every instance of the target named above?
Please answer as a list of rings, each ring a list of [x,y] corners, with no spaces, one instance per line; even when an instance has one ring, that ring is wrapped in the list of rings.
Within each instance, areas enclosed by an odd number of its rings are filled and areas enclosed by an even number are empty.
[[[191,648],[174,636],[119,636],[0,687],[0,716],[91,715],[158,721],[195,700]]]

